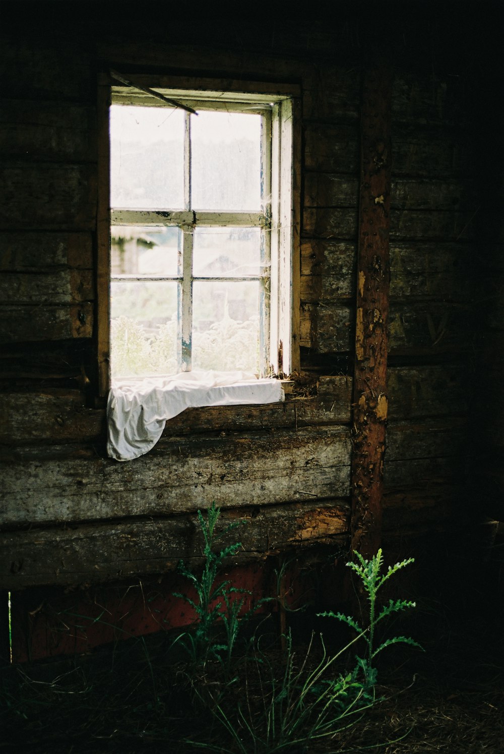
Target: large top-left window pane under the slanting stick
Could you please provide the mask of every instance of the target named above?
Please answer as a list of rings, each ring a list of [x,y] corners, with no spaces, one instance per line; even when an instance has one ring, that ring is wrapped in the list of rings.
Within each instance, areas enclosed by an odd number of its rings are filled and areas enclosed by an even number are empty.
[[[183,209],[184,113],[110,108],[110,202],[130,209]]]

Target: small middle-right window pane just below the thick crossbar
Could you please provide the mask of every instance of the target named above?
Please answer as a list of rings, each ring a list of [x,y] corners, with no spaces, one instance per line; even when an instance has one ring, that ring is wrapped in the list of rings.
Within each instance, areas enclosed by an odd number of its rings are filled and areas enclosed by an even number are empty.
[[[196,277],[245,277],[261,272],[260,228],[201,228],[194,231]]]

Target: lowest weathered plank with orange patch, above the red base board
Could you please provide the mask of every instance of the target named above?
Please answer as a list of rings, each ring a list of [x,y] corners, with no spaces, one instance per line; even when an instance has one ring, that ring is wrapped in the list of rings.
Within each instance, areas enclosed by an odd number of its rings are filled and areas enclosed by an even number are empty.
[[[202,503],[202,507],[206,504]],[[299,544],[341,541],[348,529],[345,501],[322,506],[294,503],[283,507],[231,511],[245,522],[223,541],[242,543],[231,563],[264,559]],[[228,524],[221,513],[221,526]],[[143,519],[127,523],[87,524],[70,529],[32,529],[0,534],[0,588],[17,590],[42,584],[117,581],[133,575],[166,573],[179,559],[201,560],[203,541],[197,517]]]

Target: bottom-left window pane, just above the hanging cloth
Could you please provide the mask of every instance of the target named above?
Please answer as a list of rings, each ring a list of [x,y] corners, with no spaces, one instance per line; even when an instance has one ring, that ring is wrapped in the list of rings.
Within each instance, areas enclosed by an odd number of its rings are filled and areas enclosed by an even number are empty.
[[[176,282],[111,281],[111,375],[175,374]]]

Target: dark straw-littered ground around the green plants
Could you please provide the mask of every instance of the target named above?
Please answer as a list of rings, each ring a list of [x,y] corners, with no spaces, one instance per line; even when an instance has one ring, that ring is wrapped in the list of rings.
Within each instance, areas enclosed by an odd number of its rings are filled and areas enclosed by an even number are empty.
[[[398,645],[383,652],[377,686],[383,700],[336,737],[282,751],[504,751],[504,621],[486,612],[490,615],[468,617],[432,611],[410,619],[405,630],[425,651]],[[295,637],[299,657],[306,651],[305,639]],[[185,742],[188,738],[214,746],[221,740],[225,751],[230,743],[204,705],[195,702],[187,676],[166,651],[169,641],[156,635],[87,657],[5,667],[0,752],[200,751]],[[272,664],[281,663],[278,657]],[[214,683],[209,671],[197,679],[197,687],[209,693]],[[260,693],[243,674],[232,689],[236,700]]]

